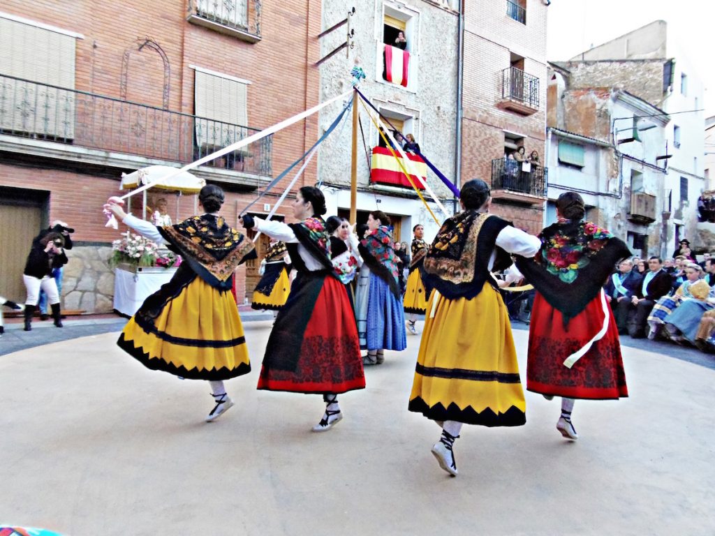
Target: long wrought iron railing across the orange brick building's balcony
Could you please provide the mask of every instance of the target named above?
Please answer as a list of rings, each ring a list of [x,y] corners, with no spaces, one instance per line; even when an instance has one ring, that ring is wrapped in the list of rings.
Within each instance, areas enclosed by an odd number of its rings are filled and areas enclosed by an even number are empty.
[[[0,134],[194,162],[257,129],[0,75]],[[207,165],[272,175],[272,137]]]

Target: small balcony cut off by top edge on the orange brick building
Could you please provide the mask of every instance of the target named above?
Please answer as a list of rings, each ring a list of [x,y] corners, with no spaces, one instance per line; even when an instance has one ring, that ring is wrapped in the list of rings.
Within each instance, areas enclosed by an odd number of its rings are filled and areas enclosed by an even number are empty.
[[[237,37],[261,40],[261,0],[189,0],[187,21]]]

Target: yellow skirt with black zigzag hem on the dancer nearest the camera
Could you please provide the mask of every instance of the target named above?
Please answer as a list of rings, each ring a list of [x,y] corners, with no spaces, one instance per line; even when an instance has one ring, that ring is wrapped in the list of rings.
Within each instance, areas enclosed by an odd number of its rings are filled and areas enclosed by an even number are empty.
[[[470,425],[526,422],[509,315],[490,284],[473,299],[432,293],[409,410]]]

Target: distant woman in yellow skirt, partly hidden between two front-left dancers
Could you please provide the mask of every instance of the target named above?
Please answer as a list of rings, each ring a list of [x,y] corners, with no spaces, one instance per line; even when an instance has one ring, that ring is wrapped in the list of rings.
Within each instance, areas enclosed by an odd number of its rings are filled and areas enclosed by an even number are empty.
[[[290,256],[285,243],[271,240],[261,265],[261,279],[253,291],[251,309],[270,309],[275,318],[290,293]]]

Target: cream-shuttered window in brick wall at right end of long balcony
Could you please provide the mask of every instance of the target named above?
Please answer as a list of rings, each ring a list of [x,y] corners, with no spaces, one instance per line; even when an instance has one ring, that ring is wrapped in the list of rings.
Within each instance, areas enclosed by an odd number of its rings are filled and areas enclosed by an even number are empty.
[[[196,139],[212,152],[247,136],[247,82],[196,69],[194,81]]]

